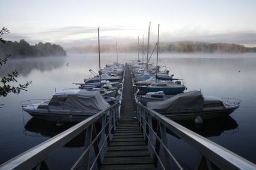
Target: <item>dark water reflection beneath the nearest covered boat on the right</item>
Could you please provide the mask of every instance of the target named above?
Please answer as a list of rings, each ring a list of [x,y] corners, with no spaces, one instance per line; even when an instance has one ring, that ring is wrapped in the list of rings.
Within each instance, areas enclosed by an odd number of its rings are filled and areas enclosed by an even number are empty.
[[[217,137],[221,134],[233,134],[239,131],[236,120],[230,116],[224,116],[223,118],[204,120],[202,124],[196,124],[194,122],[177,122],[185,128],[196,132],[203,137]],[[179,138],[173,132],[167,131],[167,133]]]

